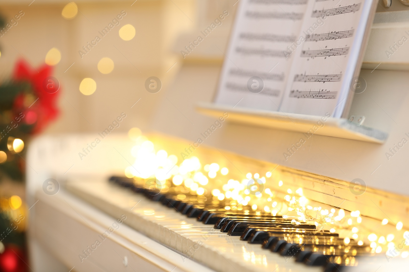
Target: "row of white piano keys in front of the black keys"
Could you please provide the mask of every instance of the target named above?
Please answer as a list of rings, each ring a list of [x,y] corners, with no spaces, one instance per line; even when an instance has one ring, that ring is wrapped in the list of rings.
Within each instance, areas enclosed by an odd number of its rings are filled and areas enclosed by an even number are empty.
[[[229,236],[214,229],[213,225],[205,225],[196,218],[188,218],[162,203],[106,181],[71,181],[67,188],[112,216],[126,214],[124,222],[128,226],[180,252],[182,259],[196,260],[216,271],[322,271],[321,267],[307,267],[265,250],[260,244],[241,241],[238,236]]]

